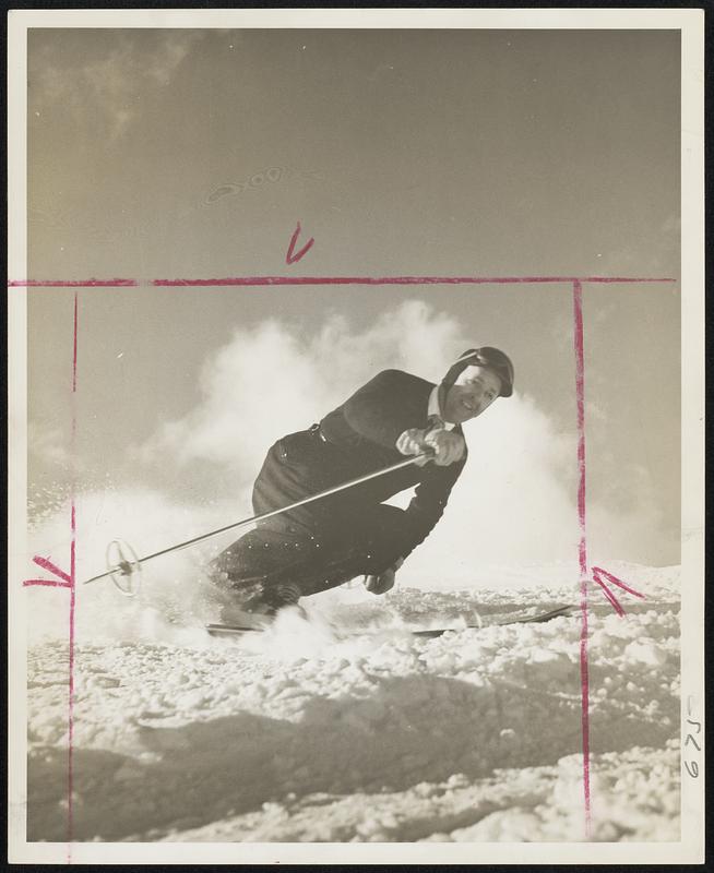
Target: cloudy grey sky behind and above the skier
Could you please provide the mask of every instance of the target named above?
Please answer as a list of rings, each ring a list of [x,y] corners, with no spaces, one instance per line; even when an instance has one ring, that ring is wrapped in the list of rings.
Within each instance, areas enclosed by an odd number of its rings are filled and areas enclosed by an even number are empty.
[[[677,32],[37,29],[28,81],[28,277],[143,283],[78,294],[74,443],[74,291],[28,292],[39,504],[74,470],[88,490],[218,501],[240,518],[273,440],[379,369],[438,381],[465,348],[495,345],[515,395],[468,426],[469,465],[425,562],[464,542],[478,560],[572,554],[568,284],[146,283],[677,279]],[[298,222],[298,247],[314,243],[286,265]],[[584,288],[595,555],[679,562],[679,307],[678,282]],[[466,573],[474,555],[459,554]]]

